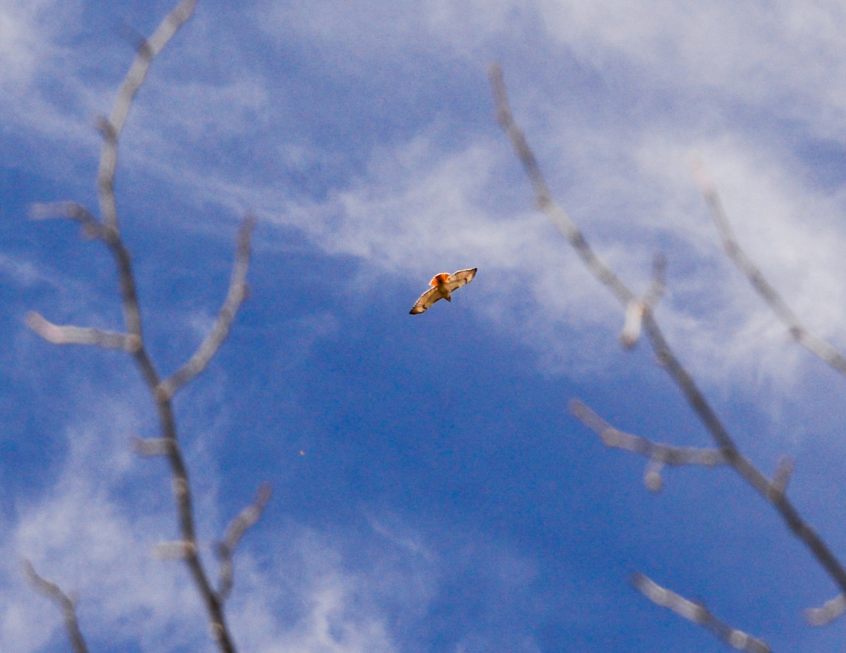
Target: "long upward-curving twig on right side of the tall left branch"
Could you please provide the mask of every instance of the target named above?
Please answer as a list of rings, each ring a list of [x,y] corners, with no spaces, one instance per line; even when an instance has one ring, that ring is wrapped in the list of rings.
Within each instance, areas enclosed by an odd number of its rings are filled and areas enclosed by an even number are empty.
[[[159,385],[157,392],[160,392],[162,397],[173,397],[181,387],[205,370],[211,357],[217,354],[217,349],[228,336],[235,315],[247,296],[246,279],[250,269],[250,236],[253,228],[255,228],[255,219],[245,217],[238,232],[238,245],[235,250],[229,291],[217,314],[217,321],[189,361]]]

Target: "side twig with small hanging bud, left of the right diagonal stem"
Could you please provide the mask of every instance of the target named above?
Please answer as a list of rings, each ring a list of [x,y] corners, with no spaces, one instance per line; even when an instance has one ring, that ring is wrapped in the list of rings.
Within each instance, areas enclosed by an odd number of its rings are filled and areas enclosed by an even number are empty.
[[[645,484],[651,491],[661,490],[661,469],[664,465],[705,465],[714,467],[727,464],[725,456],[719,449],[700,449],[696,447],[670,447],[666,444],[652,442],[645,437],[633,436],[624,431],[618,431],[598,414],[593,412],[580,399],[570,402],[570,413],[577,420],[594,431],[606,447],[623,449],[639,453],[650,459],[646,467]]]

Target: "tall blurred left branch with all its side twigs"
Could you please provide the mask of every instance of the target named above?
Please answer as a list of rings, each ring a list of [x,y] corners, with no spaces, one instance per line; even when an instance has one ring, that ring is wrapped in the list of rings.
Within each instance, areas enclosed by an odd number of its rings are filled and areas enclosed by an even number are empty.
[[[262,486],[265,489],[260,492],[260,497],[244,512],[247,517],[241,520],[237,537],[230,543],[229,535],[227,536],[227,542],[231,546],[228,547],[227,558],[222,562],[222,576],[228,581],[222,583],[221,590],[215,590],[198,553],[190,480],[179,447],[172,399],[173,394],[199,375],[217,353],[223,340],[228,335],[235,315],[247,296],[246,276],[250,266],[250,241],[255,220],[252,217],[244,218],[239,229],[227,298],[218,313],[211,332],[190,360],[173,376],[162,381],[162,377],[159,375],[146,348],[132,258],[120,234],[118,210],[114,196],[114,176],[118,165],[118,141],[135,94],[144,83],[152,60],[156,58],[159,52],[162,52],[162,49],[177,30],[184,25],[185,21],[190,19],[195,4],[196,0],[183,0],[178,3],[170,14],[162,20],[161,25],[158,26],[150,39],[140,42],[135,61],[120,85],[111,117],[100,120],[103,145],[97,175],[97,188],[102,220],[98,220],[91,211],[74,202],[37,205],[31,211],[31,216],[36,219],[63,217],[79,222],[86,238],[100,240],[106,244],[113,255],[118,273],[125,332],[108,332],[80,326],[58,326],[35,312],[28,314],[26,324],[30,326],[32,331],[50,343],[88,344],[103,348],[119,348],[124,349],[135,360],[135,365],[140,370],[140,374],[156,405],[161,430],[161,437],[158,438],[147,440],[136,438],[134,441],[135,450],[144,455],[162,455],[168,458],[173,477],[173,498],[178,514],[179,541],[157,546],[157,555],[184,560],[195,587],[206,606],[212,639],[215,640],[223,653],[234,653],[235,645],[223,612],[223,603],[232,588],[231,555],[240,536],[244,534],[244,530],[255,524],[255,521],[261,516],[261,508],[264,508],[269,499],[270,491],[269,487]],[[261,507],[258,507],[260,503]],[[230,531],[232,529],[233,527],[230,527]],[[31,568],[28,569],[31,570]],[[31,574],[30,577],[32,577]],[[47,583],[47,581],[44,583]],[[58,586],[44,583],[36,584],[36,586],[40,587],[41,590],[48,587],[54,588],[54,590],[51,589],[51,595],[54,598],[64,596]],[[59,601],[58,598],[57,601]],[[69,603],[67,601],[59,602],[63,606],[67,623]]]

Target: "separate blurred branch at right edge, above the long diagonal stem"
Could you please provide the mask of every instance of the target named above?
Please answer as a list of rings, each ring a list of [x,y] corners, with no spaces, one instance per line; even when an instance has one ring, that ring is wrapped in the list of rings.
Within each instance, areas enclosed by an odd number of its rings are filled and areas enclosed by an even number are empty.
[[[722,208],[722,201],[720,200],[720,195],[717,194],[717,187],[706,173],[705,167],[701,162],[696,161],[693,168],[696,182],[699,184],[700,191],[705,197],[708,209],[711,211],[711,217],[717,224],[717,230],[722,240],[722,247],[726,250],[728,257],[739,267],[740,272],[744,273],[744,276],[752,284],[752,287],[755,288],[755,291],[761,295],[761,299],[764,299],[767,305],[770,306],[772,312],[788,327],[788,331],[794,340],[808,349],[811,354],[826,362],[834,370],[846,376],[846,356],[843,356],[831,343],[823,340],[816,333],[810,332],[799,321],[793,310],[782,299],[781,294],[778,293],[776,288],[772,287],[772,284],[761,274],[758,266],[755,266],[755,263],[740,248],[734,231],[728,223],[726,211]]]

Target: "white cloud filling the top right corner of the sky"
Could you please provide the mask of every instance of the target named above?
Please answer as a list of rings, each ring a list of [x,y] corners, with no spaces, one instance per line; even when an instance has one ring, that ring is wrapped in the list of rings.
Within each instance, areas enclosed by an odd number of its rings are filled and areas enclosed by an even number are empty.
[[[550,35],[599,70],[625,69],[645,88],[716,95],[805,121],[842,140],[846,14],[836,2],[698,5],[543,2]]]

